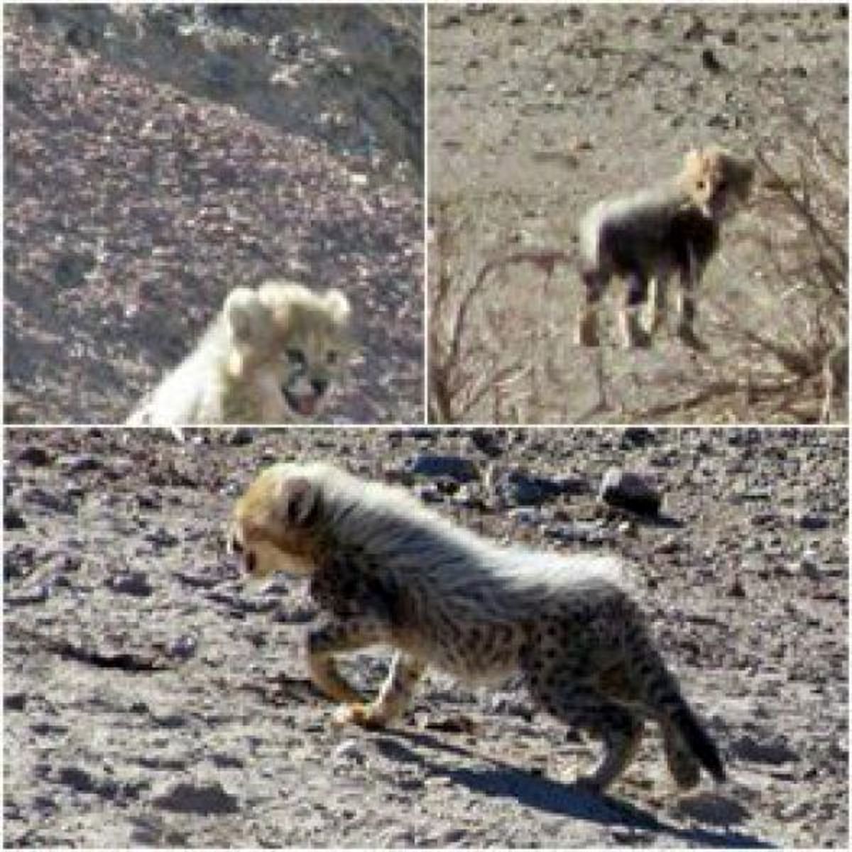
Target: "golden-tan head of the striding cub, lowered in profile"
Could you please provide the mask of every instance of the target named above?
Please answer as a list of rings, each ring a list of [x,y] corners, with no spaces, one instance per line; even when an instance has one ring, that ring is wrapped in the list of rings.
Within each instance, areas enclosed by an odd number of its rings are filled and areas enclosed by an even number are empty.
[[[243,575],[261,580],[279,572],[297,577],[314,573],[313,528],[319,507],[316,486],[288,475],[286,465],[259,475],[234,509],[228,542]]]

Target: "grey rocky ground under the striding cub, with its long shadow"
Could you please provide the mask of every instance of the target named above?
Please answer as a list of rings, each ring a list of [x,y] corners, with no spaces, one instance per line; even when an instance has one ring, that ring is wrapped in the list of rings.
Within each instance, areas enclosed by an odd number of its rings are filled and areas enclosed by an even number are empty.
[[[845,430],[188,433],[7,430],[3,807],[12,846],[845,846]],[[447,463],[435,457],[456,457]],[[728,763],[677,796],[648,736],[607,797],[592,744],[526,694],[431,673],[382,733],[331,726],[314,608],[243,588],[233,498],[332,458],[488,536],[622,554]],[[664,494],[604,510],[612,465]],[[375,687],[382,653],[354,682]]]

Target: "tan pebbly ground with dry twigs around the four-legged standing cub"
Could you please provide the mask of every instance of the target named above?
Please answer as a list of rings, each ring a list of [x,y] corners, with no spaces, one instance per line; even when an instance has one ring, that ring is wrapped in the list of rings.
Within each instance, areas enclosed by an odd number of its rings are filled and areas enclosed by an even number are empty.
[[[847,16],[805,3],[431,7],[432,417],[815,421],[826,337],[845,340],[848,316]],[[650,350],[620,351],[614,284],[602,349],[578,348],[579,217],[711,142],[763,159],[700,289],[708,350],[670,330]],[[792,200],[803,198],[832,248],[802,239],[815,233]],[[498,265],[461,318],[486,262],[541,248],[567,262],[550,277]],[[830,283],[811,274],[826,255]]]

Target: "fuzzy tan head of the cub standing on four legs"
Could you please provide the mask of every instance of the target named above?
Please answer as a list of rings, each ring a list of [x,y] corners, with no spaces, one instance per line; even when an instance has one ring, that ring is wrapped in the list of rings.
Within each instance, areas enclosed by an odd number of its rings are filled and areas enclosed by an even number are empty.
[[[690,199],[709,219],[722,222],[745,204],[751,193],[754,164],[718,145],[690,151],[680,176]]]

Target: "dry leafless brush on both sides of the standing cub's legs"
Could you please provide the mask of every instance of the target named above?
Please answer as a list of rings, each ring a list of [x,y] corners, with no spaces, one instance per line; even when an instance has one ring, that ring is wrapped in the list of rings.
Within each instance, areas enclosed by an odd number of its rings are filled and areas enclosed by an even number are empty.
[[[792,107],[786,112],[789,135],[780,150],[757,147],[760,188],[751,229],[738,238],[753,246],[751,268],[726,269],[742,282],[735,298],[719,288],[701,294],[705,333],[724,346],[695,353],[680,369],[634,373],[637,387],[653,384],[665,401],[631,406],[599,352],[582,366],[595,388],[590,404],[572,408],[577,359],[567,338],[574,312],[554,272],[563,266],[573,274],[573,252],[550,247],[497,256],[457,293],[453,244],[475,227],[475,205],[453,222],[446,204],[433,204],[430,417],[458,422],[485,406],[481,419],[495,423],[845,421],[845,383],[831,399],[826,393],[837,372],[832,357],[844,365],[838,354],[847,345],[846,147],[819,121]],[[521,284],[519,267],[527,273]]]

